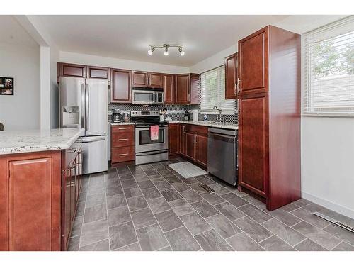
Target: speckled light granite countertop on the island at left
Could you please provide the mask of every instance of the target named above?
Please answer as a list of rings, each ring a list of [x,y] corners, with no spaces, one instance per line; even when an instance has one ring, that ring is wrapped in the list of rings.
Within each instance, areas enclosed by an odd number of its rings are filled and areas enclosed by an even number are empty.
[[[84,128],[0,131],[0,155],[70,148]]]

